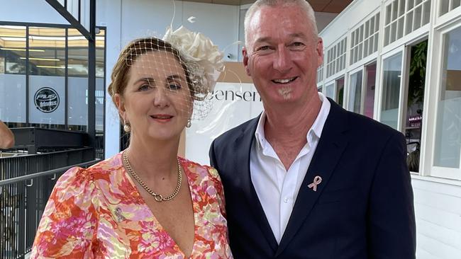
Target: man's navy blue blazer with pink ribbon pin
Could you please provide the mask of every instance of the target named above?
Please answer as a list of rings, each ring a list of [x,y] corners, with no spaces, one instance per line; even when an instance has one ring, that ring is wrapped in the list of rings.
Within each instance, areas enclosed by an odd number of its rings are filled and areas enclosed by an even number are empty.
[[[415,258],[404,136],[329,100],[321,139],[279,244],[250,178],[259,117],[211,144],[211,166],[223,182],[235,258]],[[308,185],[316,175],[322,182],[314,192]]]

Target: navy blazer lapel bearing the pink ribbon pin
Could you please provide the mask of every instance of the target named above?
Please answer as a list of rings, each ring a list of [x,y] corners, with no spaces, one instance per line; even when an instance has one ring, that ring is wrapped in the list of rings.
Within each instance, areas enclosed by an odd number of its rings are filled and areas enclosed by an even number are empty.
[[[340,160],[348,141],[343,132],[346,130],[347,113],[339,105],[330,100],[331,109],[323,126],[321,139],[313,154],[309,169],[307,169],[301,188],[299,188],[296,202],[291,212],[291,217],[284,231],[276,256],[284,251],[291,239],[301,229],[301,224],[309,216],[318,196],[328,184],[336,164]],[[316,191],[309,188],[316,176],[321,177],[321,184],[316,186]]]

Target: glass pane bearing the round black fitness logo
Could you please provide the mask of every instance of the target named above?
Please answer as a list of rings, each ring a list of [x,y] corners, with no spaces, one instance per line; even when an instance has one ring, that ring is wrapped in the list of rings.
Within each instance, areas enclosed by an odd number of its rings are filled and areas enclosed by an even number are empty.
[[[29,28],[29,123],[65,128],[65,29]]]

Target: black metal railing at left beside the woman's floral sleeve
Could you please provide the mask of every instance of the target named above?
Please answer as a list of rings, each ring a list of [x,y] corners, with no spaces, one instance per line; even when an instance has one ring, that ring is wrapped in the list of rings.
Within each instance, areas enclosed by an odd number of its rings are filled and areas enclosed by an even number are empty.
[[[24,258],[56,180],[97,161],[91,148],[0,158],[0,258]]]

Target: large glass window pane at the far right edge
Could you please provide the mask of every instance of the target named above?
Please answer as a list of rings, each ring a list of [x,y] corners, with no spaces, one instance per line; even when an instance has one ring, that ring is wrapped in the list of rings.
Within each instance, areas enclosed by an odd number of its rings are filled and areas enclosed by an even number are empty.
[[[461,28],[444,37],[443,71],[435,131],[434,166],[460,168]]]

